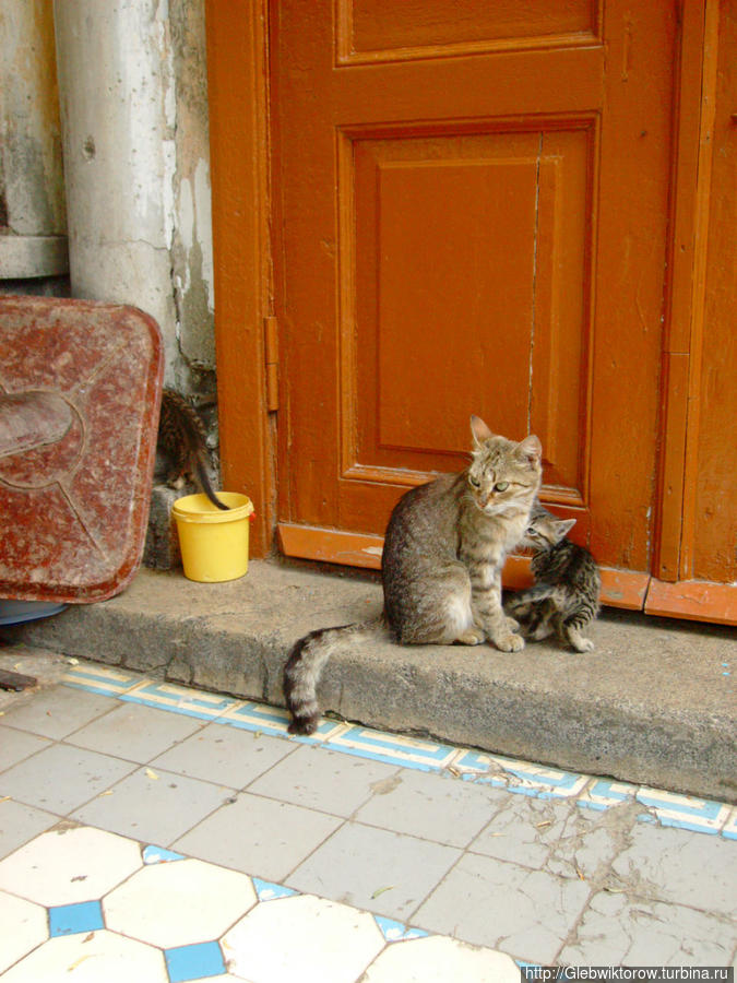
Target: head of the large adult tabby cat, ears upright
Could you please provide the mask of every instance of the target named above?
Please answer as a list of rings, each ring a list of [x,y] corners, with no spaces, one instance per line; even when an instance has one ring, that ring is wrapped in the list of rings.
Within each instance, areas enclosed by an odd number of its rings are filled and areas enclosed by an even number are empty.
[[[520,443],[499,437],[483,419],[471,417],[474,439],[468,490],[486,516],[528,509],[540,486],[543,448],[534,435]]]

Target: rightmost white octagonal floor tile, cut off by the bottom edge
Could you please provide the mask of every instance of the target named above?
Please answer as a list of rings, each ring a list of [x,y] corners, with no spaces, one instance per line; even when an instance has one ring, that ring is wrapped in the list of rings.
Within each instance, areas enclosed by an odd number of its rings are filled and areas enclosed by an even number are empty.
[[[503,952],[432,935],[389,946],[362,979],[366,983],[519,983],[520,970],[512,957]]]

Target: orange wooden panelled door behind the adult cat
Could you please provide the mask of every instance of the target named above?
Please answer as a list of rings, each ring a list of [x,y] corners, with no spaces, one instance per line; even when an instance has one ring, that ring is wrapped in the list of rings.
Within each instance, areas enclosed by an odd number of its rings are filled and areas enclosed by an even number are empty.
[[[287,552],[376,565],[346,534],[464,466],[477,413],[644,591],[674,35],[651,0],[273,3]]]

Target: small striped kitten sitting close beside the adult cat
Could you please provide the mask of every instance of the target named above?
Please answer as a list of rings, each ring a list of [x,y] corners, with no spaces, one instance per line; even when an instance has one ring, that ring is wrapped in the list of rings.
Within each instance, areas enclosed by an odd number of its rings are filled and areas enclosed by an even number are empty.
[[[527,638],[556,632],[576,652],[592,652],[593,641],[581,632],[598,614],[602,578],[591,553],[566,537],[574,525],[575,519],[557,519],[535,502],[522,541],[535,550],[535,585],[515,594],[507,611]]]

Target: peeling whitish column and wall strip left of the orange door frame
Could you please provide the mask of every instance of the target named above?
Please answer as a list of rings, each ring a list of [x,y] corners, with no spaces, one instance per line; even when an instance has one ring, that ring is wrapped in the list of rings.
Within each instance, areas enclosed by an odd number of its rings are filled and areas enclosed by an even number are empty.
[[[72,294],[133,304],[214,389],[203,0],[55,0]]]

